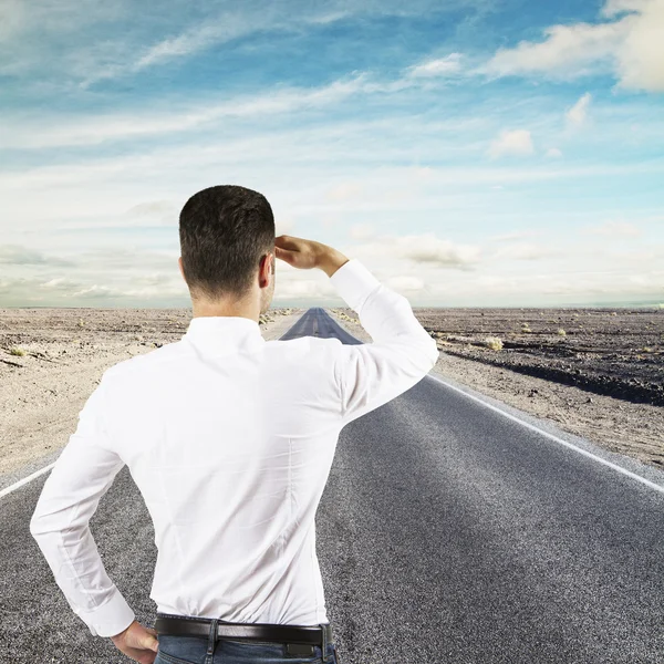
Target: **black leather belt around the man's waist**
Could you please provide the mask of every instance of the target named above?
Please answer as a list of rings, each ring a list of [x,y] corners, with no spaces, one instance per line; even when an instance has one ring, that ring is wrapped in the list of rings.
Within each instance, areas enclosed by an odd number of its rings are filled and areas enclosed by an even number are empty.
[[[178,616],[170,613],[157,613],[155,630],[157,634],[181,636],[210,636],[210,618]],[[272,623],[231,623],[217,622],[216,639],[248,639],[256,641],[276,641],[281,643],[307,643],[320,645],[332,642],[332,625],[279,625]],[[313,654],[313,651],[312,651]],[[323,651],[323,656],[325,656]]]

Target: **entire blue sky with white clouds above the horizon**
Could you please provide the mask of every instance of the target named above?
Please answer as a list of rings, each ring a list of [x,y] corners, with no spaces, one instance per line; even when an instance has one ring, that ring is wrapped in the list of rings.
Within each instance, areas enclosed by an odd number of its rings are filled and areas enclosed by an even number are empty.
[[[0,307],[189,307],[214,184],[415,307],[664,303],[662,33],[664,0],[4,0]],[[273,305],[343,302],[278,261]]]

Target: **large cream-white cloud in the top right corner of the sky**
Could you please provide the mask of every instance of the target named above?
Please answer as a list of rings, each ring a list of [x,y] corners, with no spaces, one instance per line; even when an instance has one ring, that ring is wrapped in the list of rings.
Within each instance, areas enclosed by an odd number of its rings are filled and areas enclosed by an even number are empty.
[[[544,30],[541,42],[522,41],[498,51],[485,71],[571,79],[609,70],[622,87],[664,91],[664,0],[609,0],[602,15],[619,18],[552,25]]]

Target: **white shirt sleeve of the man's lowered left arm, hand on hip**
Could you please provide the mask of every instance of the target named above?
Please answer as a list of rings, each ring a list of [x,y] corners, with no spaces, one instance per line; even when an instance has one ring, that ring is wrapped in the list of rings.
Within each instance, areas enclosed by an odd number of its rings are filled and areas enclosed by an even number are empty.
[[[30,533],[91,634],[115,636],[132,624],[135,614],[106,574],[89,527],[100,498],[124,466],[108,445],[103,416],[102,377],[44,483]]]

